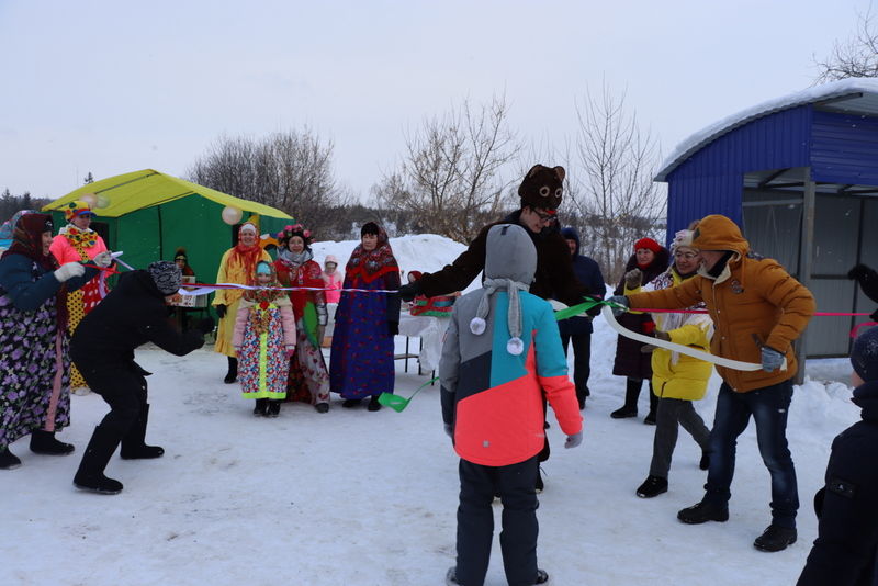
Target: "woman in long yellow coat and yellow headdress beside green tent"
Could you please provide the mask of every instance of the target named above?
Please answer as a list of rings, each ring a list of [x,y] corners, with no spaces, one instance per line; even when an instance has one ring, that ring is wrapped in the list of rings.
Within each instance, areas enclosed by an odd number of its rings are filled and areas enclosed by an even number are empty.
[[[260,260],[271,262],[271,257],[259,246],[259,230],[250,218],[238,228],[238,244],[223,255],[216,282],[252,285],[256,264]],[[213,298],[213,306],[219,317],[214,350],[228,357],[228,372],[223,379],[226,384],[238,380],[238,357],[232,345],[232,335],[243,295],[243,289],[218,289]]]

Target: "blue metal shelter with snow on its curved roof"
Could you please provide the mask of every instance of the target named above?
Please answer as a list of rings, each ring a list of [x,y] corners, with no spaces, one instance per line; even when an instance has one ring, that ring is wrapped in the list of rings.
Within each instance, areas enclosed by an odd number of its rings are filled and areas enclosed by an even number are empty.
[[[734,219],[818,311],[871,312],[846,273],[878,268],[878,79],[847,79],[770,100],[684,140],[655,177],[668,184],[668,236],[708,214]],[[865,318],[815,317],[808,357],[846,356]],[[807,352],[806,352],[807,348]]]

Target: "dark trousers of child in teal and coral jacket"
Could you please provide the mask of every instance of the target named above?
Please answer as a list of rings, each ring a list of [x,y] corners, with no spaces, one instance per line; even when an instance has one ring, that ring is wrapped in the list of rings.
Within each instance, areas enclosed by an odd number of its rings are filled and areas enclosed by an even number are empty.
[[[537,457],[508,466],[460,461],[458,582],[482,586],[494,538],[494,494],[503,502],[500,549],[509,586],[531,586],[537,576]]]

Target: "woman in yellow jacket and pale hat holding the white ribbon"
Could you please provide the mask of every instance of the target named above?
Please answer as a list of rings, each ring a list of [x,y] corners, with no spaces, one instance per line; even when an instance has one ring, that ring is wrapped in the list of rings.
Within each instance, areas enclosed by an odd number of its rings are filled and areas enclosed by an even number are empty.
[[[690,228],[695,228],[691,226]],[[691,245],[691,229],[676,234],[671,251],[674,262],[653,279],[648,288],[668,289],[691,279],[698,272],[701,257]],[[703,311],[703,302],[688,309]],[[655,337],[690,346],[705,352],[710,351],[713,322],[707,314],[698,313],[654,313]],[[654,347],[649,347],[652,349]],[[667,492],[667,475],[671,458],[677,444],[679,426],[688,431],[701,448],[701,470],[709,465],[710,430],[693,406],[694,401],[703,398],[713,365],[697,358],[673,352],[664,348],[652,350],[652,391],[658,397],[655,418],[655,436],[652,447],[650,474],[637,489],[641,498],[652,498]]]

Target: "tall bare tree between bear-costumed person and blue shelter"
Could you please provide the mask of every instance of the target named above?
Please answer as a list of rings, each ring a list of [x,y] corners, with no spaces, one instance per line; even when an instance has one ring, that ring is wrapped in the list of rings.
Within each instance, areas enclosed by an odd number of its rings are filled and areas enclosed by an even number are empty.
[[[661,236],[666,195],[652,179],[658,146],[626,106],[626,94],[617,98],[606,84],[599,97],[586,92],[576,112],[577,135],[573,146],[567,145],[567,160],[579,172],[567,173],[562,213],[579,228],[583,252],[615,283],[633,243]]]

